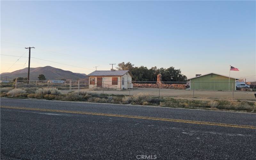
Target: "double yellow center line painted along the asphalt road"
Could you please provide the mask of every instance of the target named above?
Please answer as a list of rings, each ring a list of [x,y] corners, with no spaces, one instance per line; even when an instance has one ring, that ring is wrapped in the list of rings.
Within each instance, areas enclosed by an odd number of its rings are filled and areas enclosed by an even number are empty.
[[[256,126],[250,126],[250,125],[224,124],[224,123],[201,122],[201,121],[190,121],[190,120],[182,120],[182,119],[146,117],[146,116],[131,116],[131,115],[108,114],[108,113],[95,113],[95,112],[82,112],[82,111],[71,111],[71,110],[56,110],[56,109],[42,109],[42,108],[26,108],[26,107],[10,107],[10,106],[1,106],[1,108],[25,109],[25,110],[36,110],[36,111],[45,111],[45,112],[75,113],[75,114],[86,114],[86,115],[97,115],[97,116],[112,116],[112,117],[148,119],[148,120],[179,122],[179,123],[189,123],[189,124],[204,124],[204,125],[213,125],[213,126],[222,126],[222,127],[256,129]]]

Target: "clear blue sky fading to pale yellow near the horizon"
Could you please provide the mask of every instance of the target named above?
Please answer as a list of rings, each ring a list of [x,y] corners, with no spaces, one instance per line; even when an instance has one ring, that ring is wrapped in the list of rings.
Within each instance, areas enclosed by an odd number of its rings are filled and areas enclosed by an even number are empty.
[[[32,68],[131,62],[189,78],[231,65],[255,81],[256,1],[1,1],[1,73],[28,67],[29,46]]]

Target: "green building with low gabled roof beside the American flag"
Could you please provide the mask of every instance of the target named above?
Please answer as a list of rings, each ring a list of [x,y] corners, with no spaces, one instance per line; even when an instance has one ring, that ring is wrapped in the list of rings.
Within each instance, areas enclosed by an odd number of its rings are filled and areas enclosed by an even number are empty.
[[[237,78],[230,77],[228,83],[229,76],[220,75],[217,73],[208,73],[201,76],[196,76],[189,78],[190,82],[190,90],[221,90],[221,91],[232,91],[232,89],[236,90],[236,80]],[[233,87],[232,87],[233,83]]]

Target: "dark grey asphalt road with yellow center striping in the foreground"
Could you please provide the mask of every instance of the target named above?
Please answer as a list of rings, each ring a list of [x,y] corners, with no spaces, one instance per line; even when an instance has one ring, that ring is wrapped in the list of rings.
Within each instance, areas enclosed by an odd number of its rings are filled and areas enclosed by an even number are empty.
[[[1,159],[256,159],[253,113],[6,98],[0,112]]]

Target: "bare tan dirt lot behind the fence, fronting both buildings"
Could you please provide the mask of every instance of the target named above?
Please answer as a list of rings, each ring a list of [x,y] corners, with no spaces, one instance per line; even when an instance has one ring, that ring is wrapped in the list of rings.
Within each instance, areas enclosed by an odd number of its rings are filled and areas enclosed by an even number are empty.
[[[73,91],[77,91],[74,89]],[[92,91],[92,89],[80,89],[80,91],[90,91],[96,93],[102,93],[103,91]],[[69,90],[61,90],[63,93],[69,92]],[[151,96],[158,96],[158,88],[136,88],[131,89],[130,94],[136,94],[139,92],[148,93]],[[129,95],[129,90],[104,90],[105,94],[123,94]],[[212,99],[233,99],[232,92],[228,91],[195,91],[195,98],[212,98]],[[160,96],[166,97],[179,97],[179,98],[193,98],[193,91],[190,90],[176,90],[176,89],[160,89]],[[254,92],[246,91],[234,91],[234,99],[236,100],[256,100]]]

